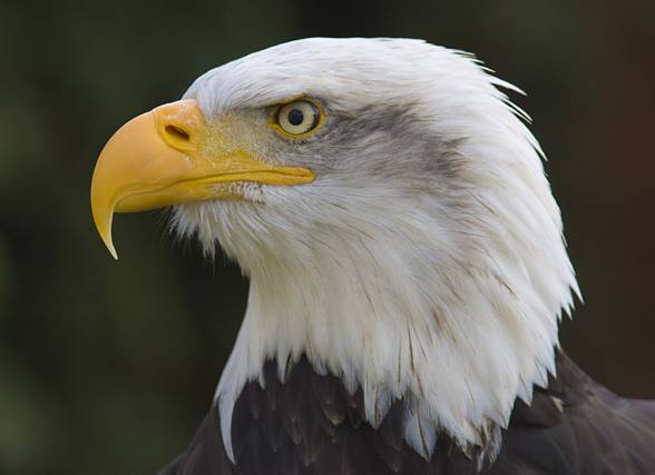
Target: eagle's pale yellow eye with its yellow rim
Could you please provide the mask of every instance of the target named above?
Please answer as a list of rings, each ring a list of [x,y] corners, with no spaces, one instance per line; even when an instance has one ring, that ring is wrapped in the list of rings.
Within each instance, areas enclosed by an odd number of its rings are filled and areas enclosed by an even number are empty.
[[[296,99],[277,107],[271,126],[286,137],[305,138],[321,126],[323,119],[323,110],[317,103],[309,99]]]

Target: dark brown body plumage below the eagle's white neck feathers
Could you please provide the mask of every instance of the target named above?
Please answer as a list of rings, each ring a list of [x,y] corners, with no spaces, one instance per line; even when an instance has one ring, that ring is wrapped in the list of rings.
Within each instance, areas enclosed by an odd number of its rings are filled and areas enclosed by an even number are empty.
[[[403,403],[374,429],[361,392],[313,372],[305,358],[284,383],[268,362],[265,388],[250,383],[233,415],[236,464],[227,458],[216,407],[189,447],[160,475],[647,475],[655,474],[655,403],[623,399],[593,382],[565,354],[557,377],[537,388],[530,406],[517,400],[502,448],[481,469],[447,437],[428,462],[403,442]]]

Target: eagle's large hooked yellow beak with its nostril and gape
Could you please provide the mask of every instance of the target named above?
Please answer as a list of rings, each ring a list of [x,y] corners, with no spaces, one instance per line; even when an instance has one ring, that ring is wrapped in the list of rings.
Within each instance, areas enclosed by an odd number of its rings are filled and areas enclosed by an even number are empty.
[[[302,185],[312,171],[270,165],[225,144],[195,100],[143,113],[109,139],[94,171],[91,211],[114,258],[114,212],[145,211],[211,199],[238,199],[229,184]]]

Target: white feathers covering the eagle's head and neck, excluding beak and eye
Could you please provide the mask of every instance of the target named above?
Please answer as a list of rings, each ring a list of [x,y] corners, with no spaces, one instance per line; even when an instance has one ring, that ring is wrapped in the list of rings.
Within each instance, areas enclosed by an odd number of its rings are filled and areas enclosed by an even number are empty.
[[[251,279],[216,392],[231,456],[234,402],[268,358],[305,354],[362,387],[373,426],[404,398],[405,441],[426,457],[438,432],[496,451],[516,398],[547,384],[578,288],[539,146],[498,87],[514,89],[422,41],[307,39],[189,88],[208,118],[302,95],[328,113],[312,139],[261,146],[314,182],[174,212]]]

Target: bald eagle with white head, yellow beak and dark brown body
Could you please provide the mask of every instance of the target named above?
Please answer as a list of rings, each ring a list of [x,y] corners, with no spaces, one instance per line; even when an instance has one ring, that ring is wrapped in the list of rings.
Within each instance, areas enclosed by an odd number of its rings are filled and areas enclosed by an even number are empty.
[[[579,296],[527,115],[470,55],[314,38],[120,128],[91,207],[250,278],[209,413],[163,474],[653,474],[655,405],[560,349]]]

